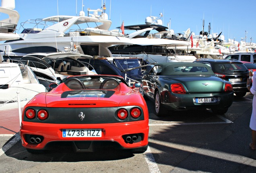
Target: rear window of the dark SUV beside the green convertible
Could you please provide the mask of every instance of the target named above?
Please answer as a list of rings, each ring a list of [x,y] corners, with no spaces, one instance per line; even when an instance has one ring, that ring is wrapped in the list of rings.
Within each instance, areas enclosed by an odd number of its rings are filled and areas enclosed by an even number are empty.
[[[217,73],[233,73],[233,72],[246,72],[247,68],[242,63],[219,63],[215,64],[215,72]]]

